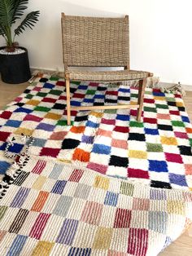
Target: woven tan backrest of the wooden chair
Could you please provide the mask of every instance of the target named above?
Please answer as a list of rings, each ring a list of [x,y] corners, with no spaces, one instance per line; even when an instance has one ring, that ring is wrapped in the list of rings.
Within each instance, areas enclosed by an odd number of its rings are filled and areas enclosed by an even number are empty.
[[[129,69],[129,16],[98,18],[62,13],[65,68],[126,67]]]

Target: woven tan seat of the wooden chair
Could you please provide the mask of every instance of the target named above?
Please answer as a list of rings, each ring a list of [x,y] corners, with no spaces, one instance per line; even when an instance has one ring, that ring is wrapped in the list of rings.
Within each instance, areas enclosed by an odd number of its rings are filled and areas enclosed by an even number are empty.
[[[135,70],[114,71],[78,71],[68,70],[65,73],[71,80],[94,82],[120,82],[149,77],[148,72]]]

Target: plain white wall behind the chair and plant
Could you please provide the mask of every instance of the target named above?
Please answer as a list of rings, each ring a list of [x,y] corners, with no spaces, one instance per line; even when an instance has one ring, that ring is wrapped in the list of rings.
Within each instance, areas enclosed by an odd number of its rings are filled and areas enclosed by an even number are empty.
[[[63,70],[60,13],[129,15],[131,68],[155,73],[162,82],[192,86],[191,0],[31,0],[40,21],[17,40],[35,68]],[[2,45],[2,38],[0,44]]]

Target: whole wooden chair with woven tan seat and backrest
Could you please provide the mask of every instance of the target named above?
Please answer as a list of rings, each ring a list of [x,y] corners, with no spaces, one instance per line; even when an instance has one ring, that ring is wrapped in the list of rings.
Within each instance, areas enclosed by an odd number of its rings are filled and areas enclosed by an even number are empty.
[[[129,16],[98,18],[71,16],[62,13],[63,62],[65,68],[68,125],[72,110],[138,108],[141,120],[146,78],[150,72],[129,69]],[[124,67],[118,71],[80,71],[68,67]],[[137,104],[71,107],[70,80],[122,82],[139,80]]]

